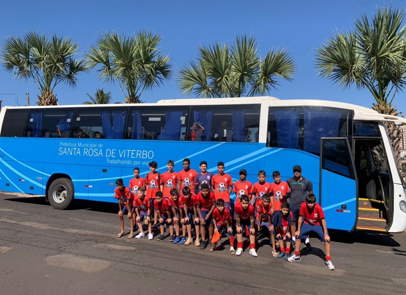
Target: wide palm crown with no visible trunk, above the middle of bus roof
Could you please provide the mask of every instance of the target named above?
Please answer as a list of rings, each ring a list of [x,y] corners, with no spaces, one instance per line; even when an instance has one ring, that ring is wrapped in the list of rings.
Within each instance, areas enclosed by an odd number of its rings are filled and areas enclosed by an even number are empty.
[[[179,72],[186,96],[241,97],[266,95],[282,79],[291,81],[296,64],[287,50],[270,50],[261,58],[253,36],[236,36],[231,45],[200,46],[196,61]]]

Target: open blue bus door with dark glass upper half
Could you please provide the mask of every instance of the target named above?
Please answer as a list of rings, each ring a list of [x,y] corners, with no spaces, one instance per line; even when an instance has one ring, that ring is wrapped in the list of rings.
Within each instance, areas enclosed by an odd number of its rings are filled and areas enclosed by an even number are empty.
[[[320,205],[327,226],[354,230],[357,222],[357,176],[348,138],[320,139]]]

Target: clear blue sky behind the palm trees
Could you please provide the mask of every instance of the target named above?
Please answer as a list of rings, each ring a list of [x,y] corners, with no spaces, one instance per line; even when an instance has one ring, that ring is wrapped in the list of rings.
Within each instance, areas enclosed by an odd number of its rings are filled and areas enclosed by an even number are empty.
[[[160,48],[172,57],[175,76],[180,68],[196,57],[200,44],[231,41],[235,34],[249,33],[256,37],[259,50],[265,55],[272,48],[288,48],[298,65],[293,82],[282,82],[270,93],[280,99],[323,99],[370,107],[373,98],[367,91],[355,88],[343,90],[317,75],[314,66],[315,49],[332,36],[335,30],[350,29],[360,13],[368,15],[384,2],[366,0],[332,1],[19,1],[2,3],[0,38],[22,36],[30,30],[70,36],[79,43],[81,54],[104,31],[117,30],[132,34],[142,28],[162,36]],[[153,4],[152,4],[153,3]],[[388,2],[387,2],[388,3]],[[405,1],[392,1],[393,6],[405,8]],[[104,84],[98,73],[80,74],[74,89],[58,85],[54,93],[59,104],[81,104],[86,94],[96,88],[111,91],[113,100],[123,101],[118,84]],[[30,93],[31,105],[39,94],[33,81],[19,81],[0,68],[0,95],[3,105],[26,104]],[[15,96],[16,95],[16,96]],[[184,98],[175,79],[167,81],[141,99]],[[406,111],[405,94],[399,93],[394,103]]]

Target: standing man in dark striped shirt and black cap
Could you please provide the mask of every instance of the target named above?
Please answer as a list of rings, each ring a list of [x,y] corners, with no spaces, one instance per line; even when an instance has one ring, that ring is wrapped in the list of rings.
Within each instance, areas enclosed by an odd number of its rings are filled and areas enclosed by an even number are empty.
[[[295,231],[296,231],[296,222],[299,218],[299,210],[300,210],[300,205],[303,202],[306,202],[306,195],[308,192],[310,194],[313,193],[313,184],[301,176],[301,167],[299,165],[293,166],[293,177],[288,179],[287,183],[290,188],[290,202],[289,202],[289,208],[290,212],[293,214],[293,219],[292,219],[292,240],[295,241]],[[309,237],[306,239],[306,248],[308,250],[313,250],[312,246],[310,245],[309,242]]]

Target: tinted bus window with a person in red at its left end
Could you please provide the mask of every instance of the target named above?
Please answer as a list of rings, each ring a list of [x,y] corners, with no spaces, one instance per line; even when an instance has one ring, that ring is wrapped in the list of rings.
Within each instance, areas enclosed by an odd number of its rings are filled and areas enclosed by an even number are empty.
[[[187,140],[258,142],[259,112],[260,104],[192,106]]]

